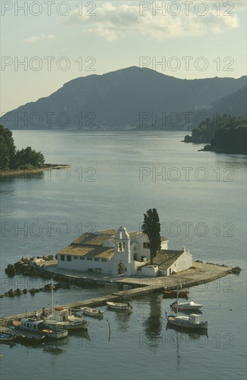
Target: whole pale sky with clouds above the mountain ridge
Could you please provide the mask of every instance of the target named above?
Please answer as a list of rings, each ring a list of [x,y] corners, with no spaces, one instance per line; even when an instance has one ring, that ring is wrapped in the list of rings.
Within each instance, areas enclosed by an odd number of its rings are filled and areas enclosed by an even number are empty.
[[[181,79],[246,75],[246,4],[1,0],[1,115],[129,66]]]

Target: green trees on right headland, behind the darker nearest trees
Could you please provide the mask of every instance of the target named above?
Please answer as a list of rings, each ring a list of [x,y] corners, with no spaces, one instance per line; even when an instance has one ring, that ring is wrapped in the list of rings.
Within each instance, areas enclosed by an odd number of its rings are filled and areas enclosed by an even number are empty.
[[[246,125],[246,123],[246,116],[232,117],[226,113],[224,113],[222,117],[215,115],[212,120],[207,119],[204,122],[199,123],[196,128],[192,129],[192,135],[186,135],[184,137],[184,142],[194,142],[196,144],[210,142],[215,137],[216,131],[219,129],[231,129],[233,131],[237,126]],[[221,133],[219,135],[221,135]]]

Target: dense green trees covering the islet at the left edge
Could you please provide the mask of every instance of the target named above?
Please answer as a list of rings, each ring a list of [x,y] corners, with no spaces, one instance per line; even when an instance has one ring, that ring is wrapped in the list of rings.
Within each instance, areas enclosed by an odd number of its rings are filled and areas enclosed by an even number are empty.
[[[0,125],[0,169],[34,169],[44,167],[45,158],[30,146],[16,151],[12,132]]]

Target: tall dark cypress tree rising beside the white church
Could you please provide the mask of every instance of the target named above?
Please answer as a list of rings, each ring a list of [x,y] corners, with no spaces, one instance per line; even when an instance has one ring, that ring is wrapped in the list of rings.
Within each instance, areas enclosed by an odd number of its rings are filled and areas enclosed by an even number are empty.
[[[149,239],[150,264],[152,265],[152,259],[157,254],[157,251],[161,249],[160,222],[157,209],[148,209],[144,213],[144,224],[141,226],[141,230]]]

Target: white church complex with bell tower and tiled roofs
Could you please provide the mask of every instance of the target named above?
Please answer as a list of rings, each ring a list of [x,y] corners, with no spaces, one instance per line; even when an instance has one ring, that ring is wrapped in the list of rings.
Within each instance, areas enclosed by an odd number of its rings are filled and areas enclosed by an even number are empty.
[[[161,250],[153,265],[148,265],[148,237],[142,232],[127,232],[126,228],[103,229],[86,233],[57,254],[57,266],[81,272],[124,276],[169,276],[192,265],[192,255],[185,247],[181,251],[168,249],[168,239],[161,238]]]

